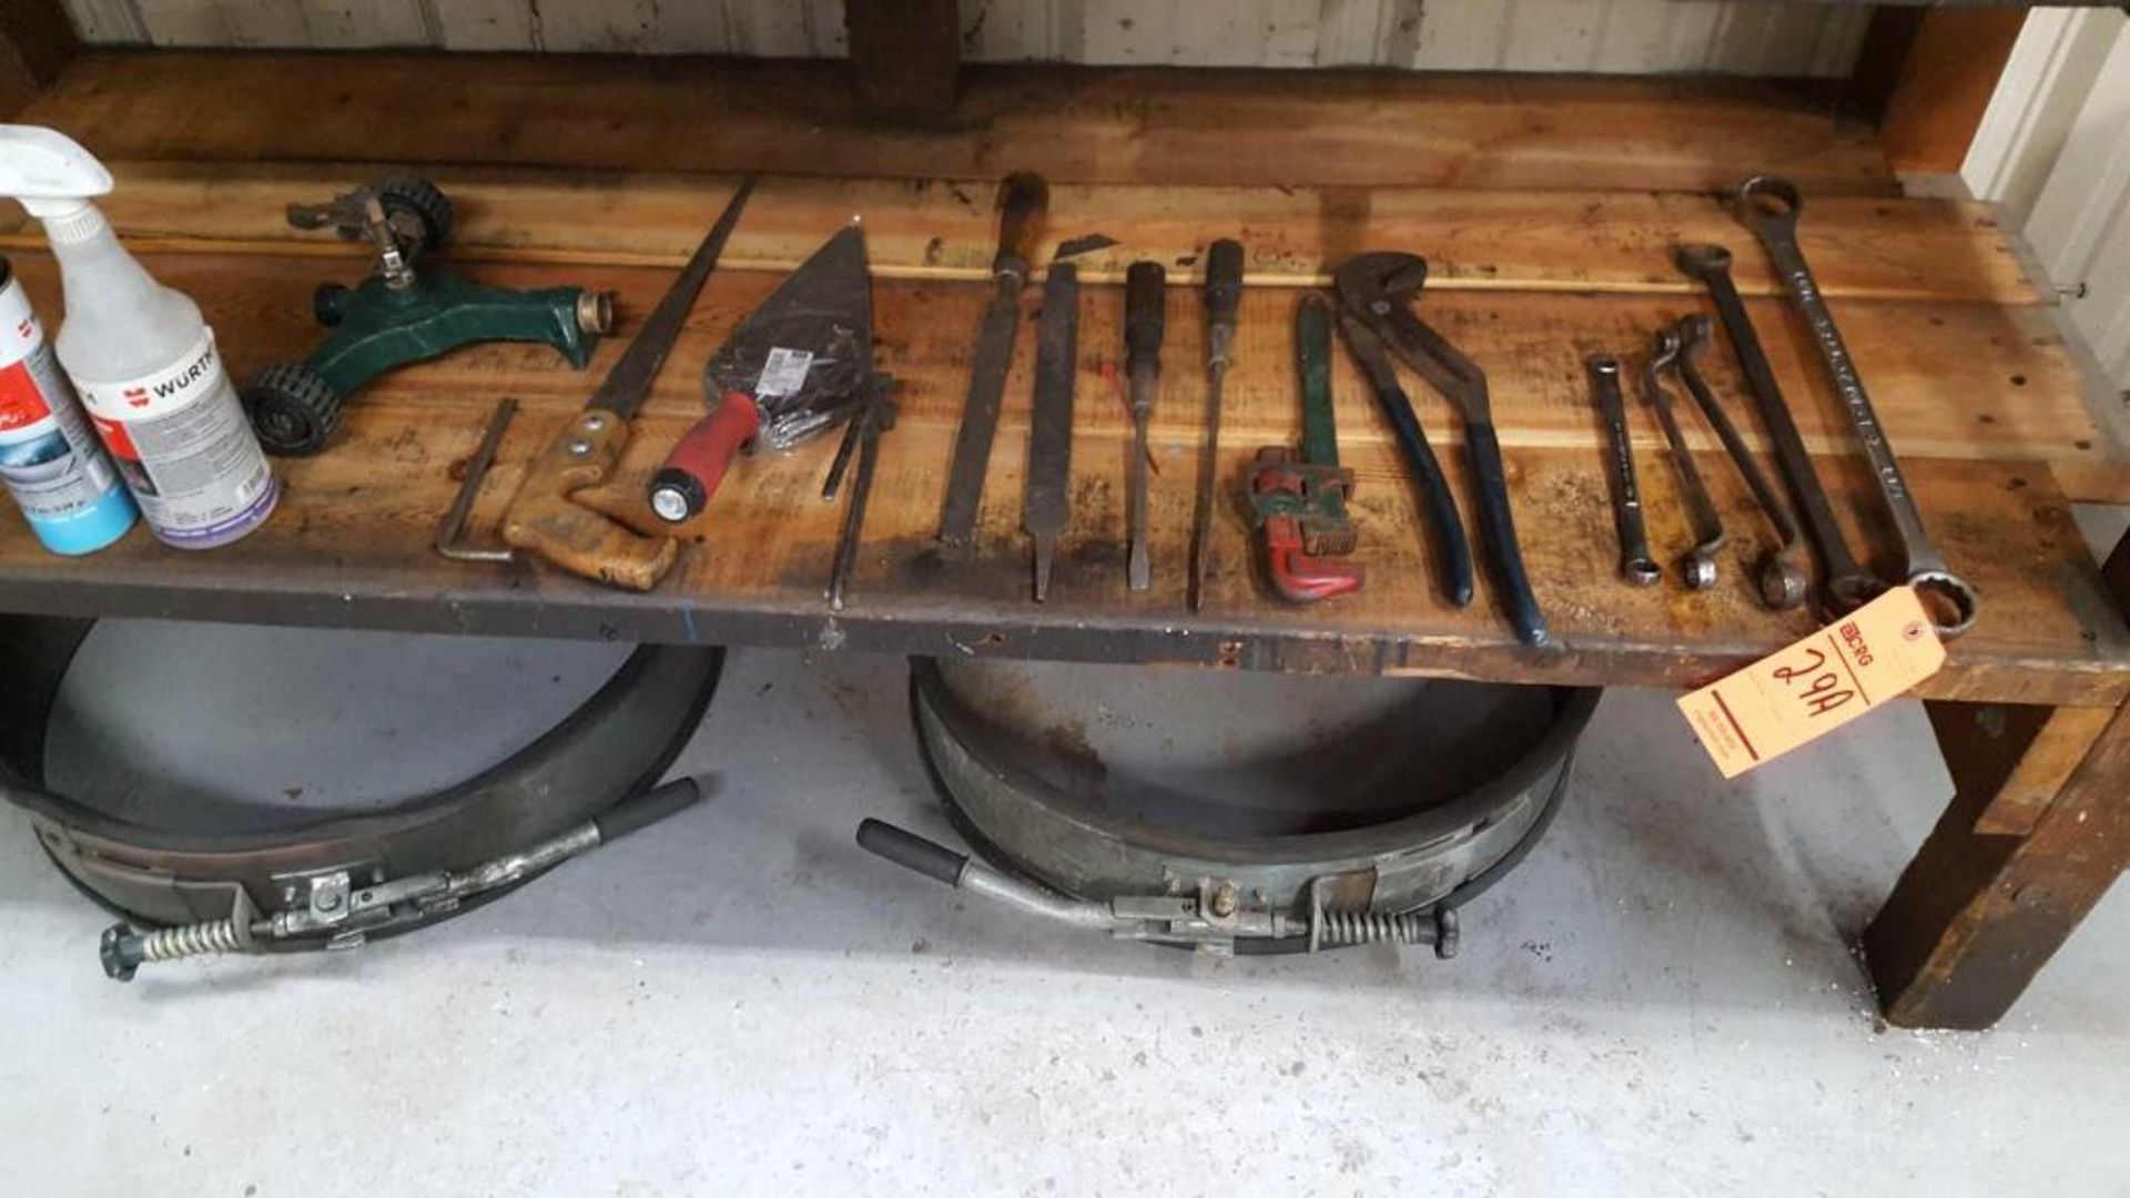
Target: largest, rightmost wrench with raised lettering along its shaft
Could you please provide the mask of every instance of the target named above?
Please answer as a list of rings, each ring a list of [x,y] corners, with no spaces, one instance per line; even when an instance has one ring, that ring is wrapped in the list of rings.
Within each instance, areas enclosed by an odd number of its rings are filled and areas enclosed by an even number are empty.
[[[1879,495],[1894,516],[1894,531],[1900,533],[1900,548],[1908,558],[1908,586],[1936,599],[1932,603],[1932,622],[1938,635],[1957,637],[1975,627],[1979,597],[1964,578],[1945,565],[1938,548],[1930,544],[1930,533],[1923,531],[1923,514],[1917,512],[1908,480],[1900,473],[1900,458],[1894,456],[1894,443],[1885,439],[1885,428],[1879,426],[1879,414],[1872,411],[1870,394],[1864,392],[1864,379],[1857,375],[1855,360],[1842,343],[1840,328],[1834,326],[1834,313],[1828,311],[1825,296],[1819,294],[1813,269],[1804,262],[1804,249],[1798,247],[1800,213],[1804,213],[1804,196],[1789,179],[1757,175],[1747,179],[1738,190],[1738,215],[1759,237],[1759,243],[1768,247],[1774,271],[1783,275],[1789,298],[1798,301],[1804,322],[1813,328],[1813,341],[1819,343],[1819,356],[1825,358],[1828,373],[1834,375],[1834,390],[1842,396],[1849,426],[1855,428],[1857,441],[1864,446],[1872,477],[1879,480]]]

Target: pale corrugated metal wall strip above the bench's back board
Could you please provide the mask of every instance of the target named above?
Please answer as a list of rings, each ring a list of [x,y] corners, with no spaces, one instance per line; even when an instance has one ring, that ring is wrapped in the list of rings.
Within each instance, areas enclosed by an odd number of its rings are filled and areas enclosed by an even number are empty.
[[[841,0],[66,0],[92,43],[841,55]],[[1766,0],[961,0],[978,62],[1847,75],[1870,9]]]

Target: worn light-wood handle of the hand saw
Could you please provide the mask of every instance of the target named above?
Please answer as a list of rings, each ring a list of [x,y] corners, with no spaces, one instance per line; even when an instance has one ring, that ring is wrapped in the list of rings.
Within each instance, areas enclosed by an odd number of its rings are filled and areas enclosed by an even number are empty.
[[[679,544],[673,537],[639,537],[575,499],[575,492],[607,482],[626,448],[626,420],[603,407],[584,409],[526,469],[503,514],[503,541],[609,586],[656,586],[673,569]]]

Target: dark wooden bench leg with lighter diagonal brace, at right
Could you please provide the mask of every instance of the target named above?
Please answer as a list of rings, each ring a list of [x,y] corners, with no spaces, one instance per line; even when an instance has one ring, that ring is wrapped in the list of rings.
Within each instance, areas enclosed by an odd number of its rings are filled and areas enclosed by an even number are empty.
[[[2107,576],[2130,595],[2130,537]],[[1989,1027],[2130,868],[2130,703],[1930,703],[1953,804],[1864,953],[1902,1027]]]

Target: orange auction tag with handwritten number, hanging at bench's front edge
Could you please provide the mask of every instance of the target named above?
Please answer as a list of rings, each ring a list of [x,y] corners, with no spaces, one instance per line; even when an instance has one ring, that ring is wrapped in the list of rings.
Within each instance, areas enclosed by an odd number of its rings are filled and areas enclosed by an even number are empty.
[[[1923,601],[1896,586],[1798,644],[1678,699],[1708,757],[1736,778],[1864,712],[1945,665]]]

